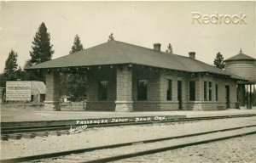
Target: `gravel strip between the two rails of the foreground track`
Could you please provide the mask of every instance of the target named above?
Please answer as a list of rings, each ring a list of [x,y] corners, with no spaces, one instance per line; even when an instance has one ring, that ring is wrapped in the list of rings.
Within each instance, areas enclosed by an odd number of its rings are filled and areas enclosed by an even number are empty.
[[[177,146],[180,144],[207,141],[207,140],[211,140],[211,139],[215,139],[215,138],[230,137],[230,136],[234,136],[237,134],[244,134],[244,133],[252,132],[252,131],[254,131],[254,132],[256,131],[256,126],[241,128],[241,129],[238,129],[235,131],[214,132],[214,133],[209,133],[206,135],[200,135],[200,136],[189,137],[189,138],[177,138],[177,139],[171,139],[171,140],[154,142],[154,143],[138,143],[138,144],[134,144],[131,146],[125,146],[125,147],[120,147],[120,148],[115,148],[115,149],[100,149],[100,150],[85,152],[85,153],[81,153],[81,154],[62,156],[61,158],[54,159],[54,160],[46,159],[46,160],[41,160],[41,161],[43,161],[43,162],[60,162],[60,160],[61,160],[63,162],[69,162],[70,160],[72,160],[72,161],[76,160],[77,162],[79,162],[80,160],[83,160],[83,161],[98,160],[98,159],[103,159],[103,158],[108,158],[108,157],[114,157],[117,155],[130,155],[130,154],[144,152],[144,151],[152,150],[152,149],[168,148],[168,147],[173,147],[173,146]],[[135,161],[135,162],[137,162],[137,161]]]

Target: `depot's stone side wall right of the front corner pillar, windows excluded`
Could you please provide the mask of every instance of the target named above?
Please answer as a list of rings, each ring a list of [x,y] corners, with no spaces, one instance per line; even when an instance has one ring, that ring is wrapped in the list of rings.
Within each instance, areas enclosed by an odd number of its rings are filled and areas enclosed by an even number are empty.
[[[137,101],[137,79],[148,79],[148,100]],[[172,100],[166,100],[167,80],[172,80]],[[146,69],[135,71],[133,78],[134,110],[161,111],[179,110],[177,100],[177,81],[182,81],[181,110],[225,110],[225,86],[230,87],[230,108],[236,108],[236,82],[218,78],[209,74],[185,74],[177,71],[160,71]],[[189,81],[195,81],[195,101],[189,101]],[[207,99],[204,99],[204,82],[207,82]],[[209,98],[209,82],[212,82],[212,100]],[[218,84],[218,101],[215,86]]]

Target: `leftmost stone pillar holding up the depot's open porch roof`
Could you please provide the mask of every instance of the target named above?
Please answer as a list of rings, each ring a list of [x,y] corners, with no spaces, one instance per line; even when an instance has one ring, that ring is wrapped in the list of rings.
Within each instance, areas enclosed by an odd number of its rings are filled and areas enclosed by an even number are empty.
[[[59,72],[52,71],[46,74],[44,110],[61,111]]]

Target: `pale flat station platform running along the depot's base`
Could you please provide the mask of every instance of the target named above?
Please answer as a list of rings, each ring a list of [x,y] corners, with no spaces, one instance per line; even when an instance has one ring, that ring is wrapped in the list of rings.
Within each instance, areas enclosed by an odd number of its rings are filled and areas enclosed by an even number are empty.
[[[216,111],[150,111],[150,112],[95,112],[95,111],[45,111],[26,109],[1,109],[1,122],[22,122],[22,121],[70,121],[100,118],[117,117],[142,117],[142,116],[163,116],[183,115],[190,117],[207,117],[222,115],[250,115],[256,114],[256,109],[252,110],[216,110]]]

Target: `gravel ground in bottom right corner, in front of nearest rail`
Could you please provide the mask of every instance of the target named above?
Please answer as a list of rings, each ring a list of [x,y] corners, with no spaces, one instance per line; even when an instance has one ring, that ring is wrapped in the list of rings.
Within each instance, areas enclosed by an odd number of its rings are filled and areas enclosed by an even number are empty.
[[[160,152],[153,155],[143,155],[131,159],[118,160],[122,162],[165,162],[165,163],[212,163],[212,162],[256,162],[256,135],[241,138],[231,138],[215,143],[206,143]]]

